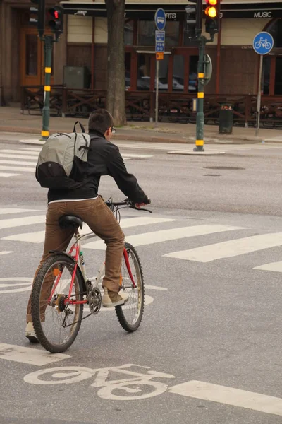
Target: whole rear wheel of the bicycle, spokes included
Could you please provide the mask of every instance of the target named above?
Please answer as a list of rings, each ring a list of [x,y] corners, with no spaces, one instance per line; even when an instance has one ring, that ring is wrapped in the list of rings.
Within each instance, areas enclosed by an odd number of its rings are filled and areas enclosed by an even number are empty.
[[[74,262],[64,254],[47,259],[32,287],[31,314],[39,343],[51,353],[66,351],[80,329],[83,305],[66,305],[71,287]],[[75,273],[72,300],[82,300],[84,283]],[[54,293],[53,293],[54,292]]]

